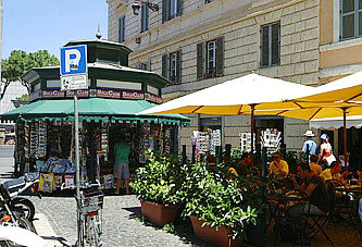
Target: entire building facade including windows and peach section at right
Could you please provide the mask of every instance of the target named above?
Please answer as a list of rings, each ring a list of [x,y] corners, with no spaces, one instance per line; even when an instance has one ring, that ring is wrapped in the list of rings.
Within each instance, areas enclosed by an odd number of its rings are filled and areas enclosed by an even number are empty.
[[[108,2],[109,39],[134,50],[130,65],[172,82],[164,100],[251,72],[317,86],[362,69],[357,0],[153,0],[159,10],[142,3],[139,15],[133,0]],[[189,116],[191,126],[180,132],[188,152],[192,131],[222,128],[223,144],[233,147],[240,146],[239,133],[250,132],[249,115]],[[307,122],[255,119],[257,132],[278,128],[287,148],[301,148]],[[338,145],[338,131],[332,133]]]

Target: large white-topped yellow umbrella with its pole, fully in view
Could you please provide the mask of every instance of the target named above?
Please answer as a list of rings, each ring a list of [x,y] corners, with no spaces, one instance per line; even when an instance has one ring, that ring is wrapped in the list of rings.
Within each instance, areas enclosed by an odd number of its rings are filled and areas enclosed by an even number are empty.
[[[313,92],[313,87],[252,73],[171,100],[139,114],[205,113],[239,115],[249,113],[251,114],[251,150],[253,151],[254,113],[300,109],[298,103],[290,100]]]

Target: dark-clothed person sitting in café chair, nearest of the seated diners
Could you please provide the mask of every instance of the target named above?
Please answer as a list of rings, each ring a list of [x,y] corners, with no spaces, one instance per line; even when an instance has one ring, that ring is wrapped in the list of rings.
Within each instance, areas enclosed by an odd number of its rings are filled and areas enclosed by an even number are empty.
[[[298,217],[302,213],[301,210],[309,210],[310,214],[319,215],[329,210],[329,197],[327,188],[321,176],[313,173],[309,164],[299,163],[298,174],[303,176],[303,183],[299,185],[296,181],[296,176],[291,175],[291,180],[295,187],[301,189],[310,197],[310,205],[295,205],[288,209],[288,213],[292,217]]]

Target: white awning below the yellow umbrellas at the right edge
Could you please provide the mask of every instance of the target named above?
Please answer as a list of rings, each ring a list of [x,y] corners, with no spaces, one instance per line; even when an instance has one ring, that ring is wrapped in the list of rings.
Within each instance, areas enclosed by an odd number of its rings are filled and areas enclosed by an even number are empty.
[[[347,116],[346,127],[362,127],[362,115]],[[309,122],[311,128],[340,128],[344,127],[344,118],[328,118],[312,120]]]

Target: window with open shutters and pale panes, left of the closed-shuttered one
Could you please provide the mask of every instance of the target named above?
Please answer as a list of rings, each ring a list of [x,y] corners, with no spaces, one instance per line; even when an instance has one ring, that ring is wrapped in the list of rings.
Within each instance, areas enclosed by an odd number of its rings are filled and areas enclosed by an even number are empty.
[[[224,37],[197,45],[197,78],[224,75]]]

